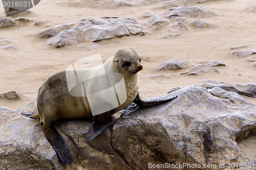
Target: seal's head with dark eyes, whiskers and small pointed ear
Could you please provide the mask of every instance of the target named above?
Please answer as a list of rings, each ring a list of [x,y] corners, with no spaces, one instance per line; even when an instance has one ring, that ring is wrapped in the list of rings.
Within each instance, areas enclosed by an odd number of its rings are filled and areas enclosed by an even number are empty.
[[[136,74],[143,66],[139,53],[131,47],[120,48],[113,57],[113,62],[121,74]]]

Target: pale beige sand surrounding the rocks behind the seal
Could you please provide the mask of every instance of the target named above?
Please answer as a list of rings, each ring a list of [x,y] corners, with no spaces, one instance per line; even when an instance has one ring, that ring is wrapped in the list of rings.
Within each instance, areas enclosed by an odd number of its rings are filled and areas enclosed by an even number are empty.
[[[141,18],[141,14],[150,11],[152,15],[168,9],[155,9],[154,4],[119,7],[116,9],[74,8],[57,4],[60,1],[41,1],[30,9],[30,14],[20,13],[11,19],[25,17],[29,23],[18,24],[15,27],[0,30],[0,37],[10,38],[17,51],[0,49],[0,93],[16,90],[22,94],[22,100],[0,100],[0,106],[18,109],[26,106],[37,96],[40,85],[55,72],[65,70],[68,65],[84,57],[101,54],[106,61],[119,48],[130,46],[135,48],[142,57],[143,70],[140,73],[140,94],[142,98],[149,98],[166,93],[172,87],[201,83],[206,80],[227,83],[256,83],[256,62],[244,61],[244,58],[232,54],[231,46],[249,44],[241,50],[256,49],[256,15],[243,9],[256,5],[254,0],[211,1],[200,4],[204,9],[218,13],[213,16],[213,24],[218,28],[189,29],[180,36],[160,39],[161,29],[154,34],[144,36],[122,36],[98,42],[84,41],[62,48],[52,48],[46,45],[46,39],[30,36],[40,30],[55,25],[73,22],[81,18],[118,16],[134,17],[139,23],[148,18]],[[0,5],[0,16],[5,16],[4,8]],[[47,21],[41,26],[35,26],[35,21]],[[50,27],[46,27],[50,26]],[[85,45],[84,45],[85,44]],[[87,50],[91,44],[98,44],[99,48]],[[84,47],[80,48],[80,46]],[[220,73],[206,73],[201,76],[180,75],[185,70],[156,71],[159,64],[168,60],[186,60],[191,65],[198,65],[200,61],[222,61],[226,66],[218,67]],[[163,74],[170,78],[148,77]],[[256,105],[256,99],[246,98]]]

